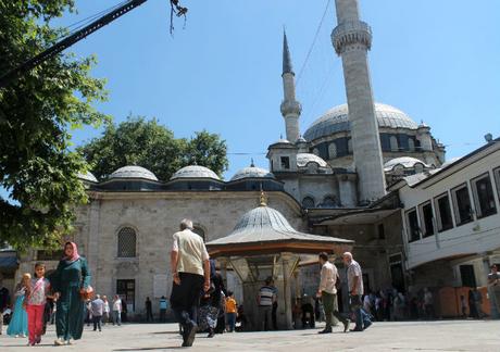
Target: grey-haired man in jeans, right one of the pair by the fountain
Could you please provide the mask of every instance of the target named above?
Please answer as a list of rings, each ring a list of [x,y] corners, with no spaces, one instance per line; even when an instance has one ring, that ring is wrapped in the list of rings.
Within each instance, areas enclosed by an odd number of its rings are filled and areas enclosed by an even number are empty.
[[[353,311],[355,315],[355,329],[351,331],[363,331],[372,325],[368,315],[361,309],[361,297],[363,296],[363,273],[361,272],[360,264],[354,261],[350,252],[343,253],[342,259],[347,266],[347,280],[351,311]]]

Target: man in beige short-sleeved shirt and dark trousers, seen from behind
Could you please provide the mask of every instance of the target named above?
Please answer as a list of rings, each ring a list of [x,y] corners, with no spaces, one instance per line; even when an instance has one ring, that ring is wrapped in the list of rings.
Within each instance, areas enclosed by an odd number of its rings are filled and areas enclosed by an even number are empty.
[[[171,267],[172,310],[183,326],[183,347],[191,347],[198,329],[200,292],[210,289],[210,262],[203,239],[192,231],[190,219],[183,219],[180,231],[174,234]]]

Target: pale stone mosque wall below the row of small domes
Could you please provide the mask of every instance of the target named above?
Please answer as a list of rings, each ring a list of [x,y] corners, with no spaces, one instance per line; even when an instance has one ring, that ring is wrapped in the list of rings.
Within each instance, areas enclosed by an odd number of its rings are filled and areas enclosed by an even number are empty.
[[[268,205],[278,210],[298,230],[304,230],[298,204],[283,192],[270,192]],[[227,236],[237,221],[258,205],[259,192],[129,192],[96,193],[78,211],[75,240],[88,259],[92,286],[113,296],[132,285],[129,313],[143,314],[147,297],[158,311],[161,296],[171,291],[172,235],[183,218],[191,218],[207,241]],[[118,234],[136,234],[136,253],[120,257]]]

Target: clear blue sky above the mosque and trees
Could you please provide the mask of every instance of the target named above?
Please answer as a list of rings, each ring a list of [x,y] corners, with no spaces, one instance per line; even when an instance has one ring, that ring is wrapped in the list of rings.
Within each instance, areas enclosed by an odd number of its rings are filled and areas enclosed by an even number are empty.
[[[73,24],[116,2],[77,0],[78,14],[58,24]],[[220,134],[229,152],[225,178],[251,158],[267,167],[267,146],[285,135],[284,26],[299,78],[301,131],[346,101],[340,59],[329,38],[334,0],[182,3],[189,8],[187,23],[183,29],[183,20],[176,20],[174,37],[168,1],[150,0],[70,49],[97,55],[92,74],[108,78],[110,91],[98,108],[115,122],[132,113],[157,117],[177,137],[203,128]],[[370,65],[376,101],[428,124],[447,146],[448,159],[479,147],[486,133],[500,135],[499,1],[360,0],[360,5],[374,34]],[[99,134],[75,131],[74,142]]]

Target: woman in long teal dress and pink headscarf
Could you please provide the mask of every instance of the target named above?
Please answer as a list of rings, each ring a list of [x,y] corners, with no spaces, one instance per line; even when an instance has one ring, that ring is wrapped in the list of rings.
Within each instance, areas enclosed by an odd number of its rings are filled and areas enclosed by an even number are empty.
[[[55,312],[58,339],[54,344],[71,344],[71,339],[82,338],[85,305],[82,296],[86,296],[85,293],[91,290],[87,260],[78,255],[74,242],[64,244],[64,256],[49,279],[58,297]]]

